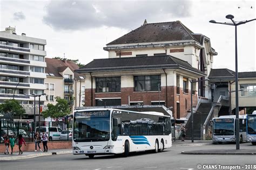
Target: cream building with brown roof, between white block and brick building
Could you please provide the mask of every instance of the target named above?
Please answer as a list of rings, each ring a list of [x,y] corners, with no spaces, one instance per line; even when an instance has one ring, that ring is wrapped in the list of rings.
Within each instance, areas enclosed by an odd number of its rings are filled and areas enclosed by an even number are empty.
[[[56,97],[64,98],[70,105],[70,112],[81,107],[85,101],[85,77],[73,72],[79,66],[70,60],[45,58],[45,105],[55,105]]]

